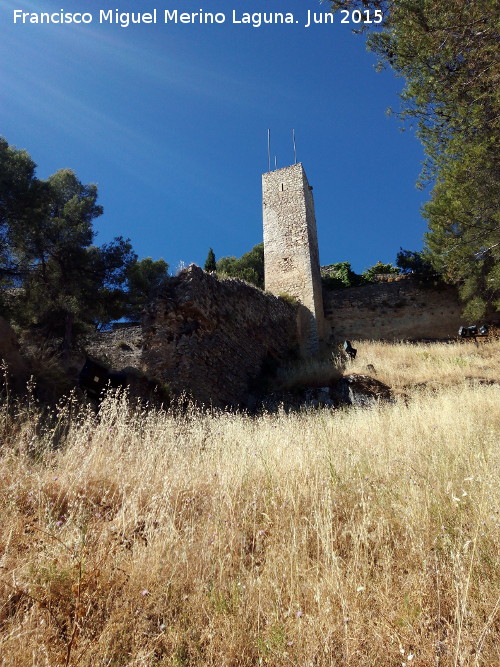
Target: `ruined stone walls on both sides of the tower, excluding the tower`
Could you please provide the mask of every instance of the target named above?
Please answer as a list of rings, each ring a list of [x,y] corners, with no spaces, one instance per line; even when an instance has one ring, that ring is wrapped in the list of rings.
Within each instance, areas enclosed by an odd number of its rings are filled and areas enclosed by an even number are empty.
[[[342,340],[448,339],[464,322],[453,287],[413,279],[324,292],[331,343]],[[143,328],[89,338],[87,352],[114,370],[133,366],[206,404],[252,406],[263,370],[297,349],[297,313],[247,283],[218,280],[191,266],[171,279]],[[490,315],[491,323],[499,315]],[[478,323],[479,324],[479,323]]]

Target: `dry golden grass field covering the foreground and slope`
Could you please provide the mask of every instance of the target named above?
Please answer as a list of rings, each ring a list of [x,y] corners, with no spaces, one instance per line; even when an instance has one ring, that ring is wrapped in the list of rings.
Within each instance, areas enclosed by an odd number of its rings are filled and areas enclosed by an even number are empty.
[[[500,344],[353,344],[401,400],[4,397],[0,664],[500,665]]]

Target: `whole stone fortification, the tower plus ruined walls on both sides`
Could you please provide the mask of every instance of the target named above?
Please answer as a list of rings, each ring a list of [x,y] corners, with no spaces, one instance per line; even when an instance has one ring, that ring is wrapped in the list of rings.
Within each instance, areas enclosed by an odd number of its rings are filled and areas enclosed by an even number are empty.
[[[267,292],[192,265],[149,304],[142,331],[99,334],[89,351],[116,370],[137,366],[174,395],[187,391],[206,405],[252,408],[272,369],[299,350],[314,354],[320,341],[449,339],[466,324],[450,286],[406,278],[322,293],[314,202],[302,165],[264,174],[262,189]],[[284,294],[299,305],[277,298]]]

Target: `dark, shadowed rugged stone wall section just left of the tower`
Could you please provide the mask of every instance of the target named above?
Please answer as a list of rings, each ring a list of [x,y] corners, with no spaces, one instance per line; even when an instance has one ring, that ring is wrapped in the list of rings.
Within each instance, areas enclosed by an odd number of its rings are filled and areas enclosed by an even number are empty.
[[[246,405],[269,363],[297,345],[296,308],[247,283],[190,266],[151,304],[142,370],[206,405]]]

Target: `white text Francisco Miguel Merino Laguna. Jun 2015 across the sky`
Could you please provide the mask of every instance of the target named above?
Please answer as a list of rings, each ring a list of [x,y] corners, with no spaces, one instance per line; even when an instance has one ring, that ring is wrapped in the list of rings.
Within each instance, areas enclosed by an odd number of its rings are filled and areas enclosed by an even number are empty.
[[[382,12],[379,10],[341,10],[339,15],[331,12],[313,12],[310,9],[300,16],[295,12],[242,12],[233,9],[230,12],[183,12],[179,9],[153,9],[149,12],[122,12],[119,9],[99,9],[94,12],[26,12],[23,9],[12,10],[12,22],[16,25],[50,24],[89,24],[101,23],[117,25],[122,28],[139,24],[179,24],[179,25],[234,25],[260,28],[266,25],[302,25],[310,28],[328,23],[381,23]]]

